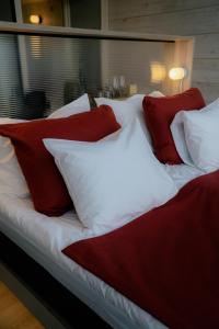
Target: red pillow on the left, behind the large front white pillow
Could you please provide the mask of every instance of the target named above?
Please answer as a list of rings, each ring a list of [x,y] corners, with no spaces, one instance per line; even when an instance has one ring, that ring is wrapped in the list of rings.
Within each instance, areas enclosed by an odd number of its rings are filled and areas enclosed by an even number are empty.
[[[65,118],[0,125],[0,135],[12,140],[36,211],[60,216],[72,201],[43,138],[96,141],[119,128],[113,110],[102,105]]]

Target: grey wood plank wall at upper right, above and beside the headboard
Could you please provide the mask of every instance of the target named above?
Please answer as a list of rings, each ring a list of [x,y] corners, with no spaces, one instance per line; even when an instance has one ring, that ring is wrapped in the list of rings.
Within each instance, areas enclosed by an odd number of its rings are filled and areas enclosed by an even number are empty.
[[[110,29],[195,36],[192,86],[219,97],[219,0],[108,0]]]

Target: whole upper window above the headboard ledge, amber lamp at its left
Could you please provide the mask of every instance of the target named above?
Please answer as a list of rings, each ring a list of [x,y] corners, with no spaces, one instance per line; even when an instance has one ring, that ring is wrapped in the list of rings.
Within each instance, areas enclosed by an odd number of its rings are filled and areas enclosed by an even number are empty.
[[[101,29],[101,0],[22,0],[22,14],[28,24]]]

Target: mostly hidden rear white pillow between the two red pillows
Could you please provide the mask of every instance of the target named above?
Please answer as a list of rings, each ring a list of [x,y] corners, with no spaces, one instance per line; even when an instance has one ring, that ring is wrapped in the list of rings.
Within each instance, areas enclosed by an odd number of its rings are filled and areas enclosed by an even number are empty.
[[[154,98],[163,97],[163,94],[160,91],[153,91],[149,95],[154,97]],[[130,121],[138,117],[138,120],[140,121],[140,124],[141,124],[141,128],[142,128],[149,144],[152,147],[150,133],[146,126],[146,122],[145,122],[145,117],[143,117],[142,101],[143,101],[145,97],[146,97],[145,94],[135,94],[124,101],[99,98],[99,99],[95,99],[95,102],[99,106],[103,105],[103,104],[110,105],[115,113],[117,122],[122,126],[127,125]]]

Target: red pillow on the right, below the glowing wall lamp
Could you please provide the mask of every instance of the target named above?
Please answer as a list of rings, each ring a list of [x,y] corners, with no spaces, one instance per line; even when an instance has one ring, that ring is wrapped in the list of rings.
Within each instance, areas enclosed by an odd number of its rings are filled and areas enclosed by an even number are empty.
[[[157,158],[164,163],[182,163],[171,134],[170,125],[178,111],[199,110],[205,101],[197,88],[172,97],[143,99],[146,124],[152,137]]]

